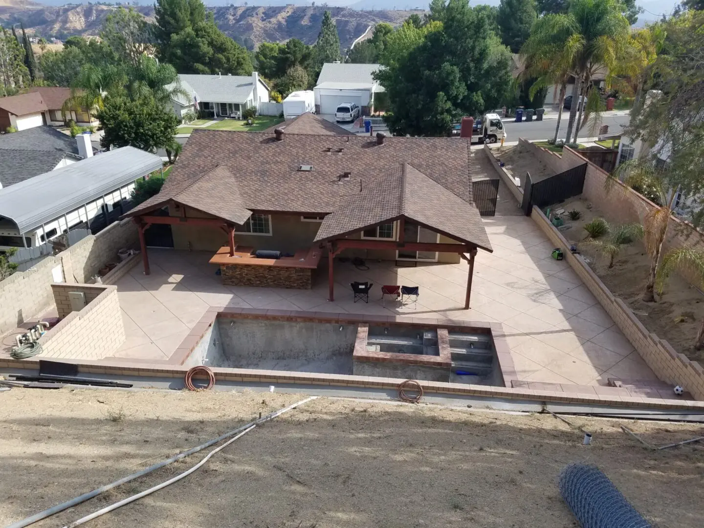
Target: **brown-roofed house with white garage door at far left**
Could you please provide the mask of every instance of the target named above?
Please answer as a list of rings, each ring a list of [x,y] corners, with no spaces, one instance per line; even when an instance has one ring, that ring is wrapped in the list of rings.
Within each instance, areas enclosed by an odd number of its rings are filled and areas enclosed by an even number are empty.
[[[64,125],[74,120],[80,126],[96,126],[99,121],[87,108],[65,110],[71,90],[61,87],[32,87],[27,94],[0,98],[0,131],[8,127],[19,130],[42,125]]]

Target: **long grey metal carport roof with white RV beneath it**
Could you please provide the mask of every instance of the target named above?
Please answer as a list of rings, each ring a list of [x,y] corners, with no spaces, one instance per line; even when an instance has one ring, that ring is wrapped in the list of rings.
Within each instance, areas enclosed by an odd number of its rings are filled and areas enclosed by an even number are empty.
[[[158,156],[123,146],[0,189],[0,251],[105,227],[124,213],[134,182],[161,167]]]

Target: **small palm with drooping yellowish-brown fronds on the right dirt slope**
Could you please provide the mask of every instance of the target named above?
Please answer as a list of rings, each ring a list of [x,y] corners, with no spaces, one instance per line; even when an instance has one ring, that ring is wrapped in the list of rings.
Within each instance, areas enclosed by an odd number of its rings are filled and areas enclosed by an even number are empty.
[[[670,226],[670,216],[674,199],[678,189],[667,185],[667,168],[655,163],[652,158],[638,158],[618,165],[606,179],[606,191],[619,187],[617,182],[623,183],[622,189],[629,188],[648,194],[653,198],[657,207],[649,209],[643,219],[643,241],[646,251],[650,256],[650,272],[646,289],[643,291],[643,301],[655,302],[655,282],[658,277],[658,267],[662,257],[662,244]]]

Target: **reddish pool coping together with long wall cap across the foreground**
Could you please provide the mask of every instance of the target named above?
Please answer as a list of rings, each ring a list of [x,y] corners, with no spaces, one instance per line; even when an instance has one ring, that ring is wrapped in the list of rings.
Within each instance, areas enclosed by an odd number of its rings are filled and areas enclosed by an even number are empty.
[[[517,379],[510,348],[505,339],[503,325],[496,322],[477,322],[463,320],[436,320],[432,318],[413,318],[405,315],[361,315],[351,313],[304,312],[290,310],[266,310],[263,308],[230,308],[211,307],[199,322],[191,329],[189,335],[182,341],[179,348],[172,353],[168,360],[140,360],[132,358],[104,358],[102,360],[71,360],[67,358],[51,358],[52,361],[73,363],[77,365],[78,372],[89,372],[101,375],[116,376],[144,376],[144,377],[184,377],[189,367],[182,363],[188,358],[191,351],[199,343],[215,319],[220,317],[232,318],[267,318],[280,321],[297,322],[336,322],[340,324],[352,323],[394,323],[403,325],[425,326],[436,325],[443,328],[465,329],[467,327],[489,327],[494,339],[496,354],[501,367],[506,386],[489,386],[474,384],[457,384],[451,382],[430,382],[418,380],[423,390],[431,393],[456,394],[464,396],[490,396],[496,398],[555,401],[562,403],[584,403],[609,406],[627,406],[639,408],[684,409],[704,412],[704,401],[691,401],[668,398],[646,398],[631,396],[627,389],[617,389],[610,386],[582,386],[555,384],[555,390],[527,389],[512,387],[511,380]],[[0,359],[0,368],[39,368],[39,358],[15,360],[13,358]],[[290,372],[282,370],[257,370],[235,369],[225,367],[211,367],[215,379],[227,382],[266,383],[266,384],[318,384],[329,386],[350,386],[357,388],[397,389],[403,379],[318,374],[314,372]],[[196,375],[196,379],[200,376]],[[562,390],[558,390],[562,389]],[[597,389],[603,389],[597,390]],[[601,394],[599,394],[601,392]]]

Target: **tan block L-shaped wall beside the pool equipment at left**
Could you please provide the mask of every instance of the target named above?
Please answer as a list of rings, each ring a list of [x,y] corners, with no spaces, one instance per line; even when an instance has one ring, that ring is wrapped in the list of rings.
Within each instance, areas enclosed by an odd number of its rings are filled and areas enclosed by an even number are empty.
[[[56,305],[65,312],[69,291],[83,291],[86,299],[92,297],[85,308],[70,312],[39,343],[39,358],[67,358],[96,360],[112,356],[125,342],[118,289],[115,286],[93,284],[51,284]]]

